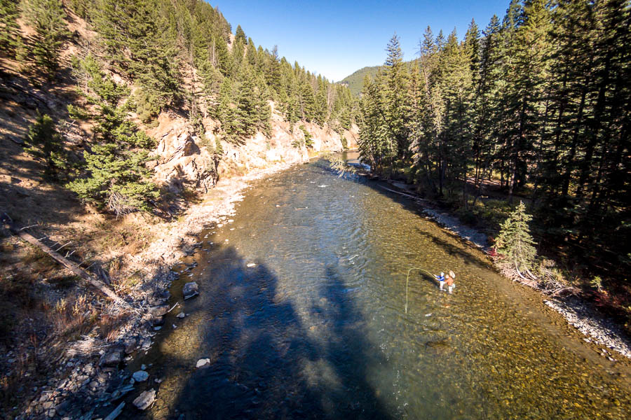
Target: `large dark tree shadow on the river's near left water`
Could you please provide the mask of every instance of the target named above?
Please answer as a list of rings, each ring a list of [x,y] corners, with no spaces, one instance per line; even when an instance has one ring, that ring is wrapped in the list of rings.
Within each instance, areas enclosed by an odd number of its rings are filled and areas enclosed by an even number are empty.
[[[370,350],[336,267],[325,268],[314,292],[306,279],[247,267],[234,248],[208,256],[195,306],[210,319],[197,329],[210,367],[186,379],[172,418],[390,417],[367,380],[367,367],[386,362]]]

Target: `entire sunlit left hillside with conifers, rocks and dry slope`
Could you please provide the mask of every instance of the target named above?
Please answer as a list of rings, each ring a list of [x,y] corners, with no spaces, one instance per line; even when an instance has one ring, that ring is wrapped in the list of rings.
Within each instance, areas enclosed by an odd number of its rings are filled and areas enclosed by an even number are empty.
[[[49,418],[71,346],[153,328],[247,181],[355,144],[351,92],[267,46],[202,0],[0,0],[0,412]]]

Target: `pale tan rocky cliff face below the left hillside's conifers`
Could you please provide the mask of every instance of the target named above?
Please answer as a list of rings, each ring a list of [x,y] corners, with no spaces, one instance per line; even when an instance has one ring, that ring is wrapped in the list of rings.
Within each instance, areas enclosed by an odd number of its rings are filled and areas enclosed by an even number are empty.
[[[341,135],[327,125],[319,127],[303,124],[311,134],[313,143],[311,148],[306,148],[295,146],[304,144],[300,123],[290,130],[290,124],[276,113],[271,123],[270,137],[259,132],[246,139],[243,145],[221,141],[222,155],[218,156],[214,153],[217,138],[214,134],[217,128],[215,120],[204,120],[206,139],[201,141],[186,119],[163,113],[158,118],[158,126],[147,131],[158,144],[154,151],[156,160],[151,162],[154,178],[172,193],[181,193],[184,189],[205,193],[215,186],[219,177],[243,175],[252,169],[266,168],[276,163],[306,162],[315,153],[343,149]],[[342,133],[348,148],[356,146],[357,132],[354,126]]]

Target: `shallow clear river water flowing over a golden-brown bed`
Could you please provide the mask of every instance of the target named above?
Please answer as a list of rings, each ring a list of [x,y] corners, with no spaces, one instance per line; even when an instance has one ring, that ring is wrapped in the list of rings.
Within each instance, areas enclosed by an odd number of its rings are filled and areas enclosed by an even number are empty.
[[[172,303],[200,287],[189,316],[134,361],[147,418],[628,418],[627,365],[378,183],[312,162],[253,183],[233,219],[176,268]],[[453,270],[454,294],[413,271],[406,313],[411,267]]]

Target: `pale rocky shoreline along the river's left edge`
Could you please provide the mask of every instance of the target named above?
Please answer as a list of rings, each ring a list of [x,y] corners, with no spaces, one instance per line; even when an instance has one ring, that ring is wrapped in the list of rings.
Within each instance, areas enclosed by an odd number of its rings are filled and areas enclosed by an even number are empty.
[[[147,381],[151,374],[132,374],[121,366],[138,353],[149,351],[154,337],[162,328],[163,316],[173,309],[168,305],[171,296],[169,288],[178,275],[170,267],[185,255],[194,253],[199,245],[196,238],[199,232],[225,223],[234,214],[236,202],[243,199],[243,190],[250,186],[251,181],[303,162],[278,162],[265,169],[252,170],[244,176],[220,180],[203,202],[189,207],[183,220],[171,223],[168,230],[158,235],[140,255],[132,255],[128,272],[142,271],[147,281],[144,281],[140,292],[144,297],[139,299],[134,296],[137,310],[123,325],[116,341],[104,343],[83,337],[71,344],[61,360],[55,362],[58,363],[57,368],[48,374],[47,384],[34,388],[31,402],[13,418],[90,420],[97,415],[114,420],[125,406],[122,400],[129,393],[139,391],[142,393],[137,395],[133,404],[138,409],[150,407],[161,379]],[[140,376],[143,381],[137,380]],[[140,382],[142,385],[136,388]],[[17,414],[20,407],[13,409]]]

